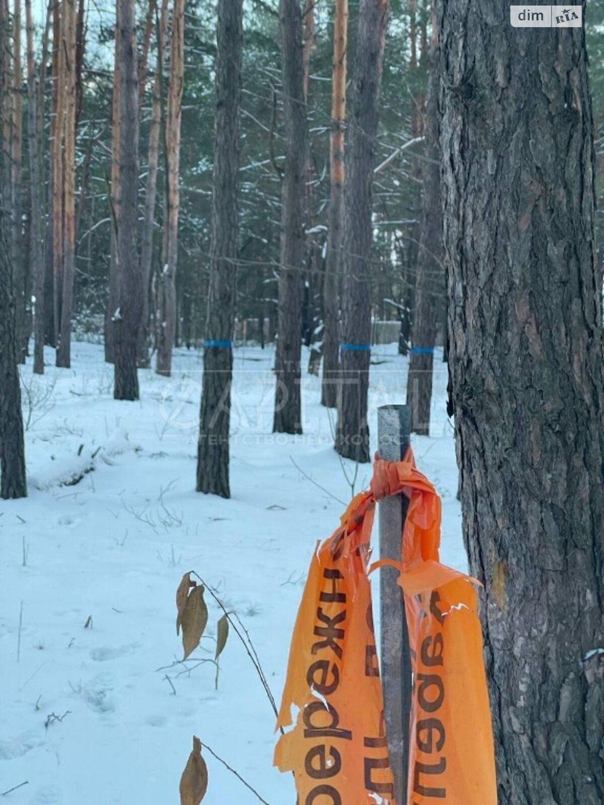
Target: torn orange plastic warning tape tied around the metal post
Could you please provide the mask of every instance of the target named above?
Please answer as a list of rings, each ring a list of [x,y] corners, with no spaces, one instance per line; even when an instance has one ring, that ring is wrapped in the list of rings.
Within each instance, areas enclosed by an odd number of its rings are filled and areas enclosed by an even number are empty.
[[[401,535],[414,689],[408,801],[496,805],[493,737],[477,615],[478,582],[439,561],[441,500],[415,466],[376,458],[370,489],[317,546],[296,618],[275,766],[300,805],[397,805],[387,752],[369,574],[375,503],[409,499]],[[388,560],[386,560],[388,561]]]

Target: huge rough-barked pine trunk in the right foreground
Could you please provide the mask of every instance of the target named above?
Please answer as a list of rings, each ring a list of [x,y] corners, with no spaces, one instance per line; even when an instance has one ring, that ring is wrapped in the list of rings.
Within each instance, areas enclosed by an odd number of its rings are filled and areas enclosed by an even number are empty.
[[[449,371],[465,543],[485,584],[499,805],[602,805],[604,393],[585,33],[512,29],[497,0],[441,9]]]

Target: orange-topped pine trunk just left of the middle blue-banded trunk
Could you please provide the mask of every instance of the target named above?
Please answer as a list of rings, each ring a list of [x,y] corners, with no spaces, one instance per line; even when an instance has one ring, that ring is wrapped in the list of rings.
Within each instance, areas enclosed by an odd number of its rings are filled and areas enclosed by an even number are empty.
[[[333,19],[333,73],[331,89],[331,135],[329,163],[329,228],[325,285],[323,287],[323,377],[321,404],[337,406],[338,320],[340,313],[340,261],[344,196],[344,126],[346,120],[346,50],[348,47],[348,0],[336,0]]]

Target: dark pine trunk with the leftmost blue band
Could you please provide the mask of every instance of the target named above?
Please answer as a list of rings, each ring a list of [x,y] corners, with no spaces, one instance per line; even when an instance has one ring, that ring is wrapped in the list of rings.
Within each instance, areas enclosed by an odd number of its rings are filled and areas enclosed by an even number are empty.
[[[230,497],[231,339],[235,323],[238,257],[242,16],[242,0],[220,0],[218,3],[212,246],[197,491],[222,497]]]

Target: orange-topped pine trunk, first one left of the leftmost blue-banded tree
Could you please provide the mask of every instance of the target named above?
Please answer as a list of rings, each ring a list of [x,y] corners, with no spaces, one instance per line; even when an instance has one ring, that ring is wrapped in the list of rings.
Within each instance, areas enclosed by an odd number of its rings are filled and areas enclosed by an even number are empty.
[[[180,210],[180,122],[184,83],[184,0],[174,0],[170,39],[170,79],[166,116],[166,164],[168,168],[168,221],[166,263],[162,266],[159,292],[157,374],[170,376],[176,341],[176,264]]]

